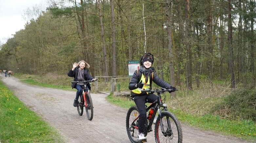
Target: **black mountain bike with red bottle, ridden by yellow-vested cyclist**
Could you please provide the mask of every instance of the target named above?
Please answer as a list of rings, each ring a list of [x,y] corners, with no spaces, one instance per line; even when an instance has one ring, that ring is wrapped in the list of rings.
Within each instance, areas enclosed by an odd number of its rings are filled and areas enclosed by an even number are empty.
[[[163,101],[165,101],[165,94],[164,92],[174,92],[177,90],[172,89],[165,89],[161,88],[161,90],[148,90],[143,92],[149,92],[149,93],[157,93],[158,99],[150,104],[150,106],[147,106],[145,104],[146,110],[150,110],[152,107],[154,107],[154,111],[151,115],[150,120],[146,120],[145,122],[145,128],[144,128],[144,134],[147,136],[147,134],[152,130],[152,124],[154,121],[154,117],[156,116],[158,112],[158,116],[155,122],[155,141],[156,143],[182,143],[182,129],[181,124],[178,121],[177,117],[171,113],[170,111],[167,111],[167,105],[164,104]],[[164,99],[162,100],[161,95],[164,96]],[[145,101],[147,103],[147,99]],[[150,114],[150,113],[149,113]],[[126,116],[126,130],[128,137],[132,143],[140,143],[140,142],[146,142],[146,141],[139,141],[138,140],[138,119],[139,119],[139,111],[136,106],[132,106],[128,109],[127,116]]]

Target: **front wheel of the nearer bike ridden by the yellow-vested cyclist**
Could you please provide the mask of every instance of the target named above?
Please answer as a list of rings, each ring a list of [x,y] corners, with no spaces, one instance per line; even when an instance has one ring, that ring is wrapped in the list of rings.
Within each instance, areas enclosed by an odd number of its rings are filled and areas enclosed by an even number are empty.
[[[155,124],[156,143],[182,143],[182,129],[177,117],[168,111],[162,112],[163,132],[159,118]]]

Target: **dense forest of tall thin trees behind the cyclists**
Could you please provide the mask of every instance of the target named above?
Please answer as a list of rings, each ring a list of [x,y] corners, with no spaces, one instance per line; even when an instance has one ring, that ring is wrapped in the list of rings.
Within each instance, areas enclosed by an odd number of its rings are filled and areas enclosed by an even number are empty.
[[[1,45],[0,68],[66,74],[85,60],[92,76],[128,76],[154,55],[160,78],[192,90],[201,81],[255,88],[255,0],[51,0]]]

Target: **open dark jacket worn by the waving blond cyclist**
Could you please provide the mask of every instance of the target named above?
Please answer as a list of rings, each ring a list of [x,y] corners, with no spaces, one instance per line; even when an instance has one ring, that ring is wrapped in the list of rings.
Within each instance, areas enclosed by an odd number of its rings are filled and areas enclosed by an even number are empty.
[[[68,76],[69,77],[74,77],[74,81],[77,81],[77,74],[78,74],[79,67],[76,67],[73,71],[72,69],[69,70]],[[85,80],[91,80],[93,77],[89,74],[88,68],[84,68],[84,79]],[[76,87],[76,83],[72,83],[72,89]],[[89,82],[86,84],[86,86],[91,90],[91,86]]]

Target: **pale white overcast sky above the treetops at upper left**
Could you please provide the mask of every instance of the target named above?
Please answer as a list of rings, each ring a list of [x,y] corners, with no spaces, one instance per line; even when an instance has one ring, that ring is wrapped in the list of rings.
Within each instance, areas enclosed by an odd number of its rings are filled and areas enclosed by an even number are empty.
[[[0,0],[0,45],[12,38],[15,32],[24,29],[25,11],[40,7],[45,10],[47,0]]]

